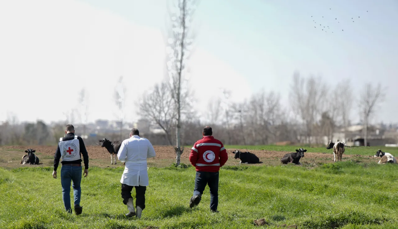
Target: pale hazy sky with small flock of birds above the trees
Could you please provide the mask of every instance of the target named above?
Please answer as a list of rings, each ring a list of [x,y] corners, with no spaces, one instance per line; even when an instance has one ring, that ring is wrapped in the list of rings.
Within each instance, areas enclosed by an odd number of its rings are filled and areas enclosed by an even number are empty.
[[[1,1],[0,121],[64,120],[79,109],[82,88],[89,122],[117,119],[119,76],[125,120],[137,120],[142,93],[164,79],[167,17],[166,0]],[[357,97],[365,83],[382,83],[386,99],[373,121],[398,122],[397,24],[395,0],[201,0],[188,63],[195,107],[205,115],[226,88],[235,102],[273,90],[287,109],[299,71],[331,88],[349,78]],[[199,94],[204,87],[209,93]]]

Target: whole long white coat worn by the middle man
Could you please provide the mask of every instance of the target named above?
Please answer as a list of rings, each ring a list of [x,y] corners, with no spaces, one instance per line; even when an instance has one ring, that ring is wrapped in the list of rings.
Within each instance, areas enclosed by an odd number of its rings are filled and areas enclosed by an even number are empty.
[[[124,140],[117,152],[117,159],[126,162],[120,182],[129,186],[148,186],[146,159],[155,156],[155,150],[148,139],[133,135]]]

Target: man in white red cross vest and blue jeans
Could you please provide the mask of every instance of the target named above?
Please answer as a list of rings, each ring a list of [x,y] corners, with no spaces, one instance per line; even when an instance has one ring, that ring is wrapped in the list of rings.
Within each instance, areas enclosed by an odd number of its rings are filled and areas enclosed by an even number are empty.
[[[57,178],[57,168],[59,159],[62,158],[61,164],[61,186],[62,200],[64,201],[65,210],[72,213],[70,206],[70,182],[72,181],[74,195],[74,211],[76,215],[82,213],[83,207],[80,206],[80,181],[82,180],[82,159],[84,160],[84,173],[88,175],[88,153],[83,139],[74,134],[73,125],[66,125],[65,137],[59,139],[57,151],[54,155],[54,172],[53,177]]]

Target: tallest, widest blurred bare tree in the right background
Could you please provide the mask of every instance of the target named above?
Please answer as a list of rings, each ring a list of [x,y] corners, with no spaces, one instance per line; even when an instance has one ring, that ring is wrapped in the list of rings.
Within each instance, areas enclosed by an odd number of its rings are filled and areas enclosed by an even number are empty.
[[[290,104],[293,112],[301,119],[305,126],[306,141],[311,141],[314,134],[316,120],[324,110],[326,85],[321,78],[301,78],[298,72],[293,75],[290,90]],[[300,141],[302,141],[300,137]]]

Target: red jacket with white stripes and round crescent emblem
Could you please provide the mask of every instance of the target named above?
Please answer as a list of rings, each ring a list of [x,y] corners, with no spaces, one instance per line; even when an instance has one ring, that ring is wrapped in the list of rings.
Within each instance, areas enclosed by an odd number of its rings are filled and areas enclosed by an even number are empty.
[[[213,136],[204,136],[195,142],[189,155],[189,161],[196,171],[218,172],[227,160],[224,145]]]

